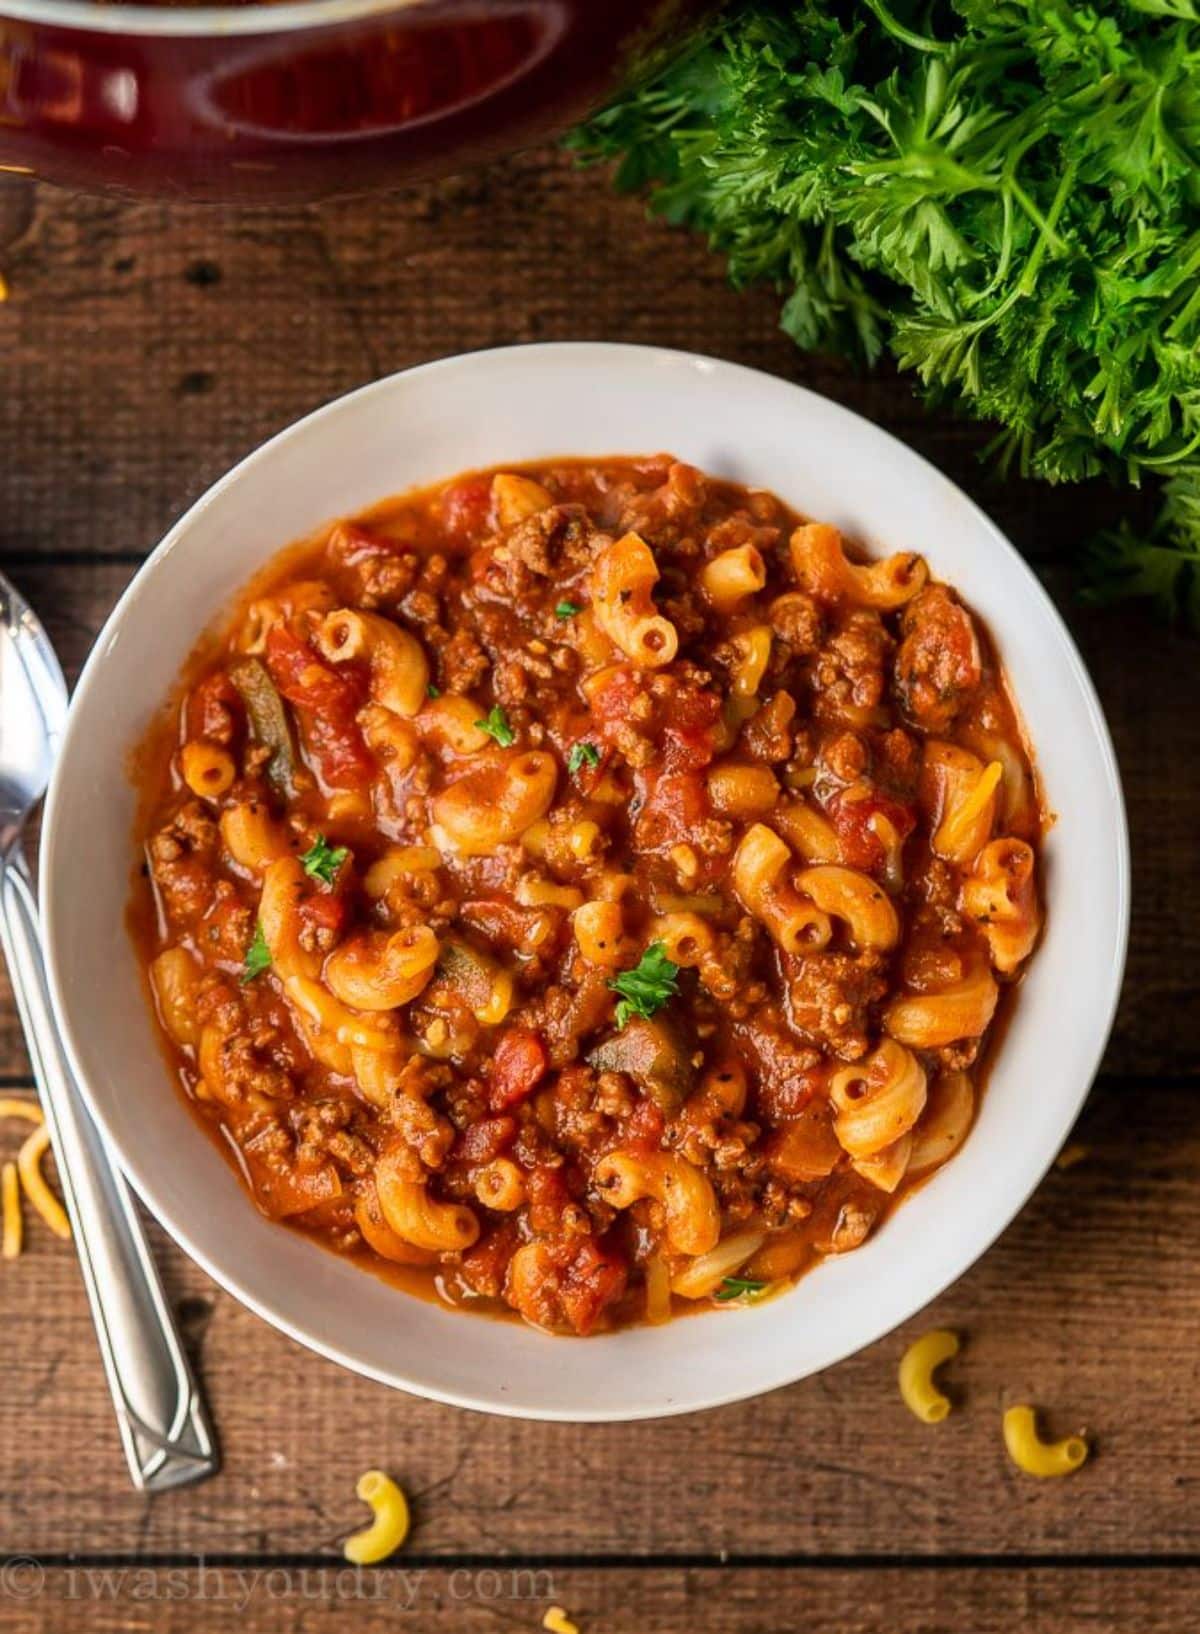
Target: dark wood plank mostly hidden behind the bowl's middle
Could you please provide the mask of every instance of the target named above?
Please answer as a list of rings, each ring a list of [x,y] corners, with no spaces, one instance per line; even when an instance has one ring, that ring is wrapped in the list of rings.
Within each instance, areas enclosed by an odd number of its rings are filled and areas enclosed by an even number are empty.
[[[95,560],[69,572],[33,559],[13,570],[46,618],[74,678],[134,567]],[[1200,665],[1195,644],[1130,609],[1081,606],[1051,587],[1082,644],[1122,761],[1135,859],[1130,964],[1110,1074],[1200,1074],[1190,1025],[1200,998]],[[0,985],[0,1075],[28,1070]]]

